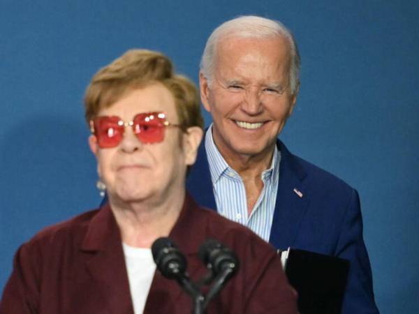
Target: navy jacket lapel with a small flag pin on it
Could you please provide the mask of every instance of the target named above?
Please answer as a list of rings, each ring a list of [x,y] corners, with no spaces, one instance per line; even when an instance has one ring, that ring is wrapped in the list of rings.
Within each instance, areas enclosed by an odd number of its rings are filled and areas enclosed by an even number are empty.
[[[285,145],[278,140],[281,151],[277,200],[270,243],[281,250],[293,246],[301,220],[309,204],[309,193],[304,188],[303,179],[307,176],[304,168]]]

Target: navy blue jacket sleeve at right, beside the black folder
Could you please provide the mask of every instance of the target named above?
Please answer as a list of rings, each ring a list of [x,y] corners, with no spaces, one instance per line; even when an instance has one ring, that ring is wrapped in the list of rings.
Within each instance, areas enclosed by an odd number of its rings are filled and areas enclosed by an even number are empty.
[[[372,289],[371,267],[362,237],[360,199],[354,189],[346,208],[335,255],[350,262],[341,313],[378,313]]]

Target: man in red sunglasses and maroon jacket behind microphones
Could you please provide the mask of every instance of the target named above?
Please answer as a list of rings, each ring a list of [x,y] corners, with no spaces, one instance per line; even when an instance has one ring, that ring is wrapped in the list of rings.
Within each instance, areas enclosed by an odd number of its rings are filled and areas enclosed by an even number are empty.
[[[94,75],[84,103],[108,202],[19,248],[0,313],[191,313],[189,295],[155,272],[150,246],[159,237],[179,245],[194,281],[207,271],[198,257],[206,239],[237,254],[240,269],[208,314],[297,313],[272,247],[186,193],[203,118],[196,87],[166,56],[126,52]]]

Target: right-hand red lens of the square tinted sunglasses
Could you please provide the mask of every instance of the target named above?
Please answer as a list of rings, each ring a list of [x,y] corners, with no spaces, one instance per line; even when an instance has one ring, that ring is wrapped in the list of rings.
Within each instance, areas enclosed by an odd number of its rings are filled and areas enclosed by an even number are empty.
[[[134,133],[144,144],[161,142],[164,138],[165,121],[164,114],[159,112],[137,114],[133,121]]]

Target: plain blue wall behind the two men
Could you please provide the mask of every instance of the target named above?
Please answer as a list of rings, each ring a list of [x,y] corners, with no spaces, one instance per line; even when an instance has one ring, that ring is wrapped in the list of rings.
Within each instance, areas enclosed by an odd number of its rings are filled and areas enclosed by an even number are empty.
[[[199,2],[1,0],[0,292],[23,241],[100,202],[82,107],[91,75],[145,47],[197,81],[212,29],[253,13],[300,45],[281,138],[360,192],[381,312],[419,313],[418,1]]]

